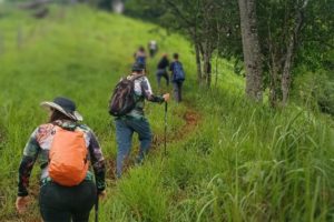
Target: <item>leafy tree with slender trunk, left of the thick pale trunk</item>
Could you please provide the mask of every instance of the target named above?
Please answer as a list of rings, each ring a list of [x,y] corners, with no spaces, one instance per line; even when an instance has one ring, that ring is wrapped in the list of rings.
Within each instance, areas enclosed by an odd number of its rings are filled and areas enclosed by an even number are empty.
[[[140,2],[140,3],[139,3]],[[194,44],[197,79],[207,87],[212,84],[210,60],[217,49],[218,31],[222,30],[220,14],[225,1],[222,0],[138,0],[128,2],[140,14],[159,18],[160,24],[186,36]],[[134,6],[135,4],[135,6]],[[137,13],[138,14],[138,13]],[[157,16],[158,14],[158,16]],[[155,17],[156,16],[156,17]],[[218,26],[217,26],[218,24]]]

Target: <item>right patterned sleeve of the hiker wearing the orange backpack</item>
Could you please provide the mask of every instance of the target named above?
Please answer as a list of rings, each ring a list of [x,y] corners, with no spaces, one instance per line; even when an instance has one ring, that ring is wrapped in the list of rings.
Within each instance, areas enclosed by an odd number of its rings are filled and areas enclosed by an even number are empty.
[[[94,169],[95,178],[96,178],[96,186],[98,193],[101,193],[106,189],[106,167],[105,159],[102,154],[102,150],[97,141],[96,135],[92,131],[89,131],[89,154],[91,160],[91,165]]]

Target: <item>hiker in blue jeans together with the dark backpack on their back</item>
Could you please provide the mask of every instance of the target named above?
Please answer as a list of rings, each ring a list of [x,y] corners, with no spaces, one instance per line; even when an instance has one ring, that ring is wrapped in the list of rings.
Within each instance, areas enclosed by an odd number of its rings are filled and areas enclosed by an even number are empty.
[[[127,85],[130,85],[129,89]],[[122,95],[128,89],[129,97],[124,99]],[[135,97],[134,97],[135,95]],[[135,98],[134,104],[131,99]],[[131,141],[134,132],[138,133],[140,141],[139,153],[136,163],[140,164],[147,154],[151,143],[151,131],[149,123],[144,114],[145,99],[150,102],[167,102],[169,94],[154,95],[150,83],[145,77],[144,65],[135,63],[132,65],[132,73],[122,79],[116,87],[109,104],[109,113],[115,115],[116,124],[116,141],[117,141],[117,160],[116,160],[116,174],[117,178],[121,176],[125,159],[129,155],[131,150]],[[129,110],[125,107],[130,107]],[[119,110],[117,112],[117,110]]]

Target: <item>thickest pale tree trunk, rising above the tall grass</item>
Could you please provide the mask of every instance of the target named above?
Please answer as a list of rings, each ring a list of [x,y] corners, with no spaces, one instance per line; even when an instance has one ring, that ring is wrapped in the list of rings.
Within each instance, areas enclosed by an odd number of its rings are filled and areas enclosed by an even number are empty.
[[[246,70],[246,94],[263,100],[262,58],[257,33],[255,0],[238,0]]]

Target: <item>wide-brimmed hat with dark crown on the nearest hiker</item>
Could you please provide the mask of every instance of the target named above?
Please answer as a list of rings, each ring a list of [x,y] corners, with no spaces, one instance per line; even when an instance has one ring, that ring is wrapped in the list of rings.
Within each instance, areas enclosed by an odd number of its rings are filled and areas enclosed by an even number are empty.
[[[52,102],[45,101],[40,103],[43,108],[52,108],[69,117],[75,121],[82,121],[82,115],[77,111],[76,103],[70,99],[58,97]]]

